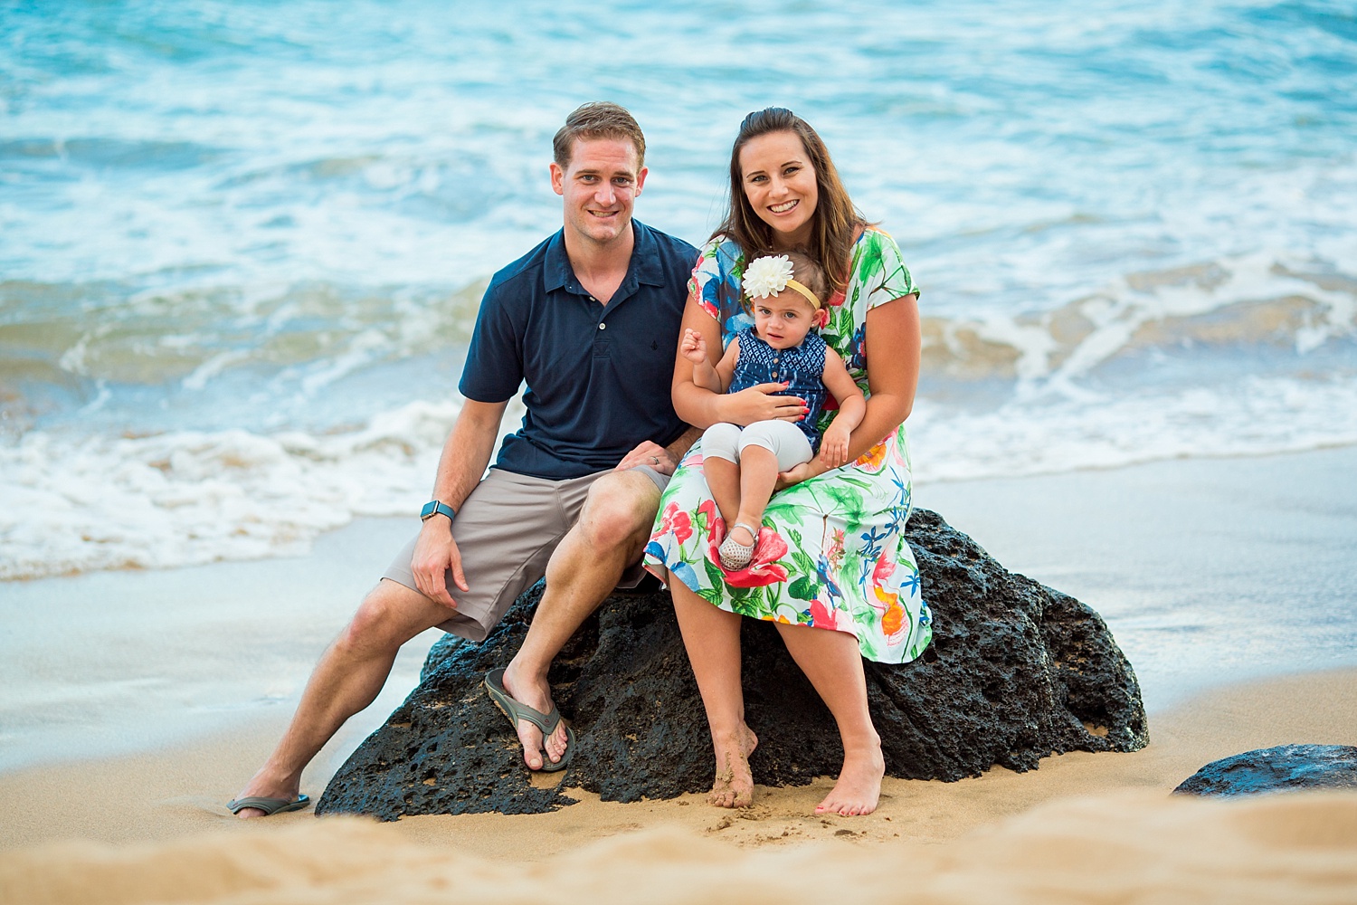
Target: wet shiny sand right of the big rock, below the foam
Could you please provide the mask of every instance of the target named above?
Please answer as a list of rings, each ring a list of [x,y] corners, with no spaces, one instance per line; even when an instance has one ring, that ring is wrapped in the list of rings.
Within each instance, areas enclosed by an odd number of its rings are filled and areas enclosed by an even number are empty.
[[[1107,621],[1151,710],[1357,665],[1357,446],[925,483],[995,559]]]

